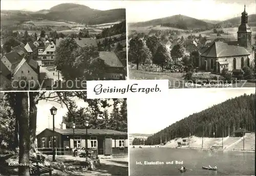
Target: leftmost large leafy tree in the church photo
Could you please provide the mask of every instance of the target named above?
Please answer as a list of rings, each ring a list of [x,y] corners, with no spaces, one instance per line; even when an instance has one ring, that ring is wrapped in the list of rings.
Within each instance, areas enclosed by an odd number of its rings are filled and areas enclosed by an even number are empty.
[[[139,70],[141,63],[152,63],[152,53],[139,37],[130,40],[128,56],[132,63],[137,64],[137,70]]]

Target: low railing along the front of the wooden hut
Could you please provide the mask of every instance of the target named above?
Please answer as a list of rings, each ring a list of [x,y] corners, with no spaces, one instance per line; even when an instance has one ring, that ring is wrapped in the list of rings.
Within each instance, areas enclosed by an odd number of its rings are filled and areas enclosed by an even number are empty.
[[[36,148],[37,151],[44,153],[46,155],[53,155],[53,148]],[[56,155],[74,155],[73,148],[55,148]],[[90,148],[85,150],[84,152],[77,151],[77,156],[86,157],[91,159],[98,159],[98,148]]]

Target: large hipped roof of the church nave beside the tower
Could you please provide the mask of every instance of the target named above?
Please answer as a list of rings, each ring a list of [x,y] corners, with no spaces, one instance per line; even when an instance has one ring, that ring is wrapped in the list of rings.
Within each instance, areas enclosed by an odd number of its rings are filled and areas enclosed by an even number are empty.
[[[201,56],[204,57],[227,57],[242,55],[250,55],[250,53],[243,47],[230,46],[222,41],[215,41],[206,51],[201,54]]]

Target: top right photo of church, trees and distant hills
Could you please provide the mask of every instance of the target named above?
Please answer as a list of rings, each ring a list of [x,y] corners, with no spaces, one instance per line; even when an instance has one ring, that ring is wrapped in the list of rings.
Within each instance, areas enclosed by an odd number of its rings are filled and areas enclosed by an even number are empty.
[[[129,79],[169,89],[255,87],[255,1],[131,1]]]

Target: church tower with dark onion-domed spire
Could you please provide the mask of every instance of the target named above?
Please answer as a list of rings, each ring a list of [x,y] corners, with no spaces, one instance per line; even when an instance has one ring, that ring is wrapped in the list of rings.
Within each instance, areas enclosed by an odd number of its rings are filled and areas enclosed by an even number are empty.
[[[238,44],[240,47],[251,47],[251,28],[248,25],[248,14],[244,11],[241,16],[241,25],[238,27]]]

